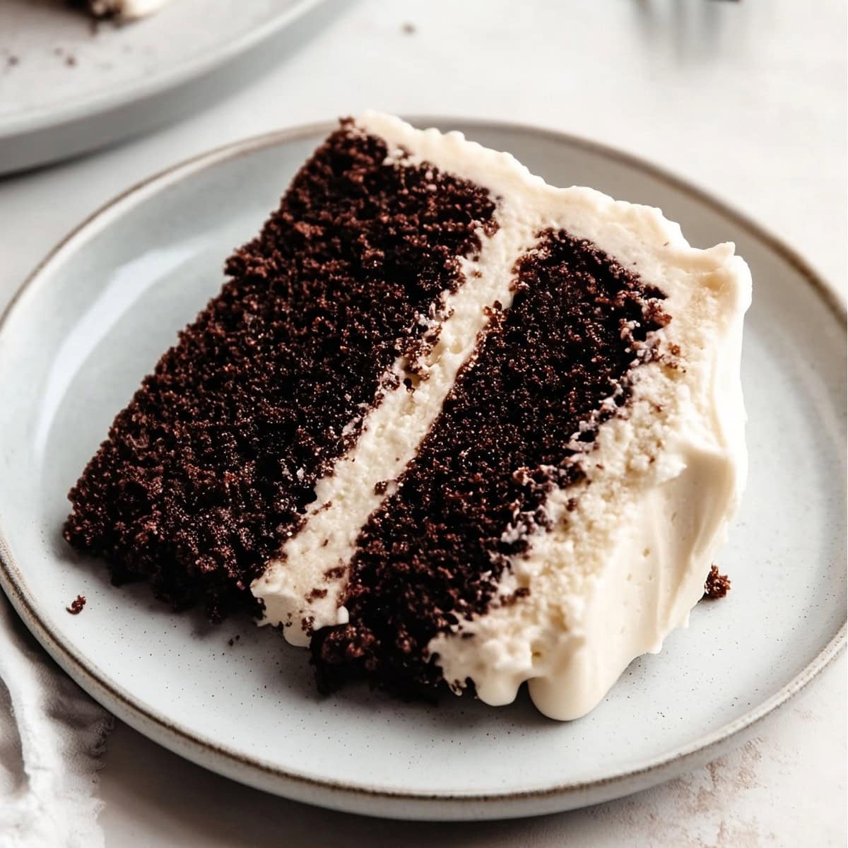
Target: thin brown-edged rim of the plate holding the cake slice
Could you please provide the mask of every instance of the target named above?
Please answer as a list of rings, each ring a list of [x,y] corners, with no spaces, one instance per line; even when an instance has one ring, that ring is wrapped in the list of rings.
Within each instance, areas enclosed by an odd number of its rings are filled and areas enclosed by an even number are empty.
[[[318,3],[321,0],[305,0],[305,2]],[[756,223],[745,213],[734,209],[733,206],[713,196],[711,192],[707,192],[697,184],[683,179],[683,177],[677,176],[661,166],[589,138],[515,121],[443,115],[412,115],[407,120],[410,120],[416,126],[449,126],[452,123],[460,123],[467,129],[518,131],[536,137],[546,137],[572,148],[600,153],[601,156],[612,159],[619,164],[641,170],[711,207],[717,213],[731,220],[734,226],[756,238],[765,248],[778,254],[801,276],[806,285],[812,289],[812,293],[826,307],[831,317],[840,322],[842,332],[845,333],[845,321],[848,317],[846,315],[845,298],[835,287],[829,285],[823,276],[815,271],[806,259],[801,257],[801,254],[789,247],[781,237]],[[131,209],[134,205],[144,202],[147,198],[175,182],[194,176],[203,170],[214,168],[229,159],[287,142],[296,142],[316,136],[324,137],[329,131],[332,131],[334,126],[336,126],[335,121],[321,121],[231,142],[183,160],[176,165],[171,165],[164,170],[159,170],[153,176],[149,176],[127,188],[124,192],[120,192],[82,220],[25,278],[25,281],[0,314],[0,338],[2,338],[3,330],[8,325],[10,317],[19,308],[25,295],[34,291],[43,280],[48,279],[49,272],[54,265],[59,265],[64,254],[74,250],[76,243],[85,241],[89,234],[98,232],[98,229],[107,225],[109,220],[115,216],[123,214],[126,209]],[[676,765],[678,766],[677,773],[682,773],[689,762],[693,762],[699,756],[703,762],[707,762],[711,758],[707,756],[711,752],[714,753],[714,756],[718,756],[721,753],[719,749],[728,748],[734,738],[739,737],[740,734],[745,734],[746,731],[750,732],[751,728],[758,722],[761,722],[778,707],[783,706],[807,683],[816,678],[839,655],[846,642],[846,623],[843,622],[817,656],[771,697],[709,734],[701,735],[685,745],[678,745],[665,754],[652,757],[635,767],[619,770],[603,778],[571,781],[550,787],[521,791],[510,789],[486,793],[462,793],[454,789],[444,792],[438,790],[409,791],[365,784],[350,784],[346,781],[335,781],[328,778],[315,778],[308,774],[281,768],[262,758],[245,756],[227,745],[220,745],[210,739],[205,739],[203,735],[197,734],[192,729],[170,721],[159,711],[137,703],[125,689],[114,684],[105,672],[95,666],[92,661],[88,661],[85,656],[81,656],[80,652],[68,640],[57,633],[51,627],[49,616],[39,614],[36,600],[27,590],[25,577],[10,554],[3,533],[2,522],[0,522],[0,585],[2,585],[15,611],[23,619],[27,628],[64,671],[83,689],[86,689],[95,700],[101,703],[105,702],[104,706],[109,711],[114,712],[131,726],[147,735],[148,738],[160,745],[165,745],[180,756],[186,756],[193,762],[260,789],[277,792],[280,795],[289,795],[299,801],[310,801],[351,811],[362,812],[362,806],[366,805],[370,808],[366,812],[377,815],[403,816],[404,810],[399,809],[399,806],[411,805],[411,808],[407,809],[405,814],[407,817],[415,817],[416,814],[425,812],[423,809],[416,809],[416,807],[427,806],[427,802],[437,802],[438,805],[446,805],[448,808],[484,802],[491,809],[494,805],[503,805],[505,802],[512,802],[513,805],[527,805],[535,801],[534,811],[522,812],[511,807],[507,809],[500,806],[497,810],[493,809],[488,815],[478,813],[474,817],[528,815],[533,814],[533,812],[540,812],[543,809],[543,806],[540,805],[544,805],[544,812],[554,812],[555,809],[563,809],[569,800],[577,801],[571,806],[583,806],[599,800],[626,795],[636,789],[647,788],[649,785],[660,783],[662,780],[672,777]],[[212,762],[209,762],[209,757],[212,758]],[[271,784],[270,781],[276,781],[277,785]],[[314,795],[315,790],[323,792],[324,795],[316,797]],[[597,793],[598,796],[589,797],[588,793],[592,791]],[[310,794],[305,795],[304,792]],[[376,801],[385,802],[389,805],[388,809],[383,812],[376,810],[373,807]],[[544,804],[545,801],[549,803]],[[561,806],[555,806],[550,803],[551,801],[561,801]],[[458,812],[460,811],[454,809],[454,812],[450,815],[458,817]],[[427,817],[430,816],[427,815]]]

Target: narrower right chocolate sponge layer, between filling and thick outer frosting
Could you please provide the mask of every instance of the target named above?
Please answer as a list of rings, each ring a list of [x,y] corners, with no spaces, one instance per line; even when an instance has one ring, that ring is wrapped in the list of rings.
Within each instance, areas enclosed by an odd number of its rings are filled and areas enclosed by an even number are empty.
[[[663,294],[591,243],[544,232],[515,273],[511,309],[489,326],[360,535],[343,600],[349,624],[313,637],[324,688],[351,675],[405,692],[443,682],[427,644],[486,611],[506,557],[526,544],[520,530],[505,531],[544,523],[550,489],[581,475],[574,434],[591,442],[627,404],[634,363],[656,355],[638,349],[667,322]]]

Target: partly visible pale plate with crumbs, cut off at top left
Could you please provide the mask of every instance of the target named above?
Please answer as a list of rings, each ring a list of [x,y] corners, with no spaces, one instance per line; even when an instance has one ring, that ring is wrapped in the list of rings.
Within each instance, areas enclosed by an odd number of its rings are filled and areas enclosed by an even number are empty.
[[[94,27],[66,0],[3,0],[0,174],[103,147],[221,98],[302,41],[304,31],[288,40],[283,31],[319,2],[174,0],[144,20]]]

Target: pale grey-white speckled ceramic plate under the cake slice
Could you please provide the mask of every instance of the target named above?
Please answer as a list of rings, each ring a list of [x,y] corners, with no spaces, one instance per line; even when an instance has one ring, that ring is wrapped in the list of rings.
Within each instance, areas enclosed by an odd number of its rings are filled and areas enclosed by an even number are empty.
[[[95,698],[244,783],[421,818],[531,815],[625,795],[738,743],[844,640],[844,310],[787,248],[650,165],[526,127],[416,122],[510,150],[552,182],[659,205],[693,243],[734,239],[750,262],[750,483],[720,560],[728,598],[700,604],[689,629],[633,662],[588,717],[556,723],[525,697],[501,709],[402,704],[364,688],[323,699],[305,652],[278,634],[173,615],[145,586],[114,589],[101,564],[71,553],[59,535],[65,493],[327,126],[249,140],[132,188],[26,283],[0,329],[3,586]],[[79,593],[88,604],[70,616]]]

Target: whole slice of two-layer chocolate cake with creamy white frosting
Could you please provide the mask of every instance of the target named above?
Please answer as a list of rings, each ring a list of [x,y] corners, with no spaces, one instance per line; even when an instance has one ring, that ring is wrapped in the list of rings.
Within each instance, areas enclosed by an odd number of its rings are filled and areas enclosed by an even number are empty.
[[[556,718],[685,625],[745,480],[733,245],[365,114],[226,271],[70,493],[115,582]]]

